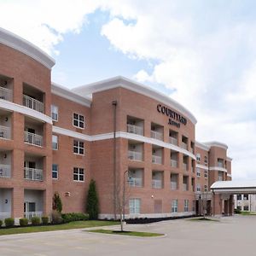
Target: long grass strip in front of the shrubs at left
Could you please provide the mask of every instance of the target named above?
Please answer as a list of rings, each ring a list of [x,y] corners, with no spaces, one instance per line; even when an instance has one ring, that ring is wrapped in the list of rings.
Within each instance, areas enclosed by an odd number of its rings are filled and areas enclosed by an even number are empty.
[[[29,226],[29,227],[19,227],[19,228],[9,228],[9,229],[0,228],[0,236],[32,233],[32,232],[54,231],[54,230],[84,229],[84,228],[92,228],[92,227],[110,226],[110,225],[116,225],[116,224],[119,224],[119,222],[102,221],[102,220],[85,220],[85,221],[73,221],[67,224],[58,224],[58,225],[49,225],[49,226]]]

